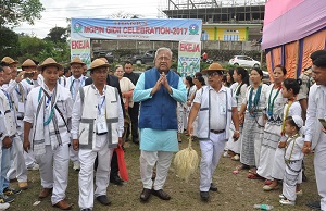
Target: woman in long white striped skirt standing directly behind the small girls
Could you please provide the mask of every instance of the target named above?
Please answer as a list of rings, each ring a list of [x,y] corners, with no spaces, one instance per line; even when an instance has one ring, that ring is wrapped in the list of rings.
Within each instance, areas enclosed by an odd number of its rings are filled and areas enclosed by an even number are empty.
[[[285,79],[287,71],[284,66],[277,65],[273,71],[274,84],[271,84],[267,90],[267,107],[264,137],[261,147],[260,163],[256,170],[256,176],[266,178],[265,184],[269,185],[273,181],[272,166],[275,151],[280,138],[280,128],[283,122],[284,105],[287,101],[281,96],[281,83]]]

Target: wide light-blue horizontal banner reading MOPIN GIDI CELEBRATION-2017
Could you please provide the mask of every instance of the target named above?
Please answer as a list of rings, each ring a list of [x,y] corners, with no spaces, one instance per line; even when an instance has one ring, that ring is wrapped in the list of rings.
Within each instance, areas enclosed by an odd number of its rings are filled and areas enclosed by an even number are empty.
[[[202,20],[72,18],[73,39],[137,39],[200,41]]]

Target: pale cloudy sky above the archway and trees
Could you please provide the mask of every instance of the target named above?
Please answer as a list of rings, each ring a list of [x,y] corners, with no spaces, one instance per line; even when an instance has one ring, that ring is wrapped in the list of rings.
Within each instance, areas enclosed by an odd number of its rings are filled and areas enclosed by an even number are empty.
[[[112,14],[128,13],[140,15],[141,18],[163,17],[166,0],[40,0],[46,9],[41,20],[34,25],[22,23],[14,28],[16,33],[45,38],[51,28],[66,27],[66,18],[108,18]],[[90,3],[91,2],[91,3]]]

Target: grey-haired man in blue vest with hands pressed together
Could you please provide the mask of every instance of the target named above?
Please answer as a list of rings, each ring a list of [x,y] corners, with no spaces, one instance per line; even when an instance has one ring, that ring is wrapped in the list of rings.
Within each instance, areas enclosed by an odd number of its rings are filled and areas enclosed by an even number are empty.
[[[140,200],[146,202],[151,194],[162,200],[170,200],[163,191],[173,152],[178,151],[177,102],[186,102],[186,87],[183,79],[172,70],[172,51],[158,49],[155,67],[140,75],[133,100],[141,102],[139,115],[140,174],[143,190]],[[151,179],[156,163],[156,177]]]

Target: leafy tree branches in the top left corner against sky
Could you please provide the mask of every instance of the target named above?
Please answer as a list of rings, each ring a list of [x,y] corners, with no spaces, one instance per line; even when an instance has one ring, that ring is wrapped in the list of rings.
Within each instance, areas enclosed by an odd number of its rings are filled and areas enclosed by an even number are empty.
[[[16,26],[21,22],[34,25],[34,21],[41,18],[45,8],[39,0],[1,0],[0,26]]]

